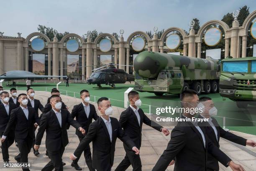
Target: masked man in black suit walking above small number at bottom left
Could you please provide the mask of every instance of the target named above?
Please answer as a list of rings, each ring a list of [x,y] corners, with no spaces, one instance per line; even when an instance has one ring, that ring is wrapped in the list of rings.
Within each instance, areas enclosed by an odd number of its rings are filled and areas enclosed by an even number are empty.
[[[39,125],[40,120],[35,109],[27,106],[28,96],[26,94],[21,93],[18,96],[18,102],[20,106],[11,111],[10,120],[5,128],[1,141],[4,142],[6,136],[15,128],[15,137],[20,150],[20,153],[15,159],[18,162],[28,163],[28,153],[30,153],[33,145],[34,123]],[[25,171],[29,170],[28,168],[22,169]]]

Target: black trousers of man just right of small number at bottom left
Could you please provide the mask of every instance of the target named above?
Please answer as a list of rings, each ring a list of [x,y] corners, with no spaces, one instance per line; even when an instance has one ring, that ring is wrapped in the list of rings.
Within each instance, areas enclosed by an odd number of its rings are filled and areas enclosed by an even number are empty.
[[[44,168],[42,169],[42,171],[52,171],[55,168],[55,171],[63,171],[63,166],[62,166],[62,162],[61,162],[61,157],[64,153],[65,148],[62,146],[59,150],[57,151],[48,151],[48,155],[49,158],[51,159],[51,161],[49,161],[49,163],[47,163]]]

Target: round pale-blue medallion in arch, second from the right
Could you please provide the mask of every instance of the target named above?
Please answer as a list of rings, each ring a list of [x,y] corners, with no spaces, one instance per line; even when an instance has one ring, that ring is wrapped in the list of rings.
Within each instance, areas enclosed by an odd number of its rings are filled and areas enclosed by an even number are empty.
[[[210,28],[205,32],[204,41],[208,46],[215,46],[221,40],[221,31],[220,29],[214,27]]]

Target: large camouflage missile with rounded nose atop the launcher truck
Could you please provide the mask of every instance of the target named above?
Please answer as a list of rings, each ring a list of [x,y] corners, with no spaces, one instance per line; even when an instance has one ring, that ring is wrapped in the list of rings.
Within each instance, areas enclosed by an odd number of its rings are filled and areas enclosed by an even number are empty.
[[[182,55],[144,51],[133,61],[133,68],[143,78],[156,78],[166,67],[182,67],[187,69],[217,70],[218,60],[201,59]]]

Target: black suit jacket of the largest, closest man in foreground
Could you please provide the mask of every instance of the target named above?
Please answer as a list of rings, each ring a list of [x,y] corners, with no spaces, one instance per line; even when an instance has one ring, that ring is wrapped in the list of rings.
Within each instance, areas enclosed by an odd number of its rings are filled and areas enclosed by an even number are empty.
[[[165,171],[175,157],[174,171],[206,171],[207,152],[227,167],[231,159],[210,141],[205,128],[200,128],[204,133],[206,146],[202,135],[191,122],[178,122],[172,130],[166,150],[160,156],[153,171]]]

